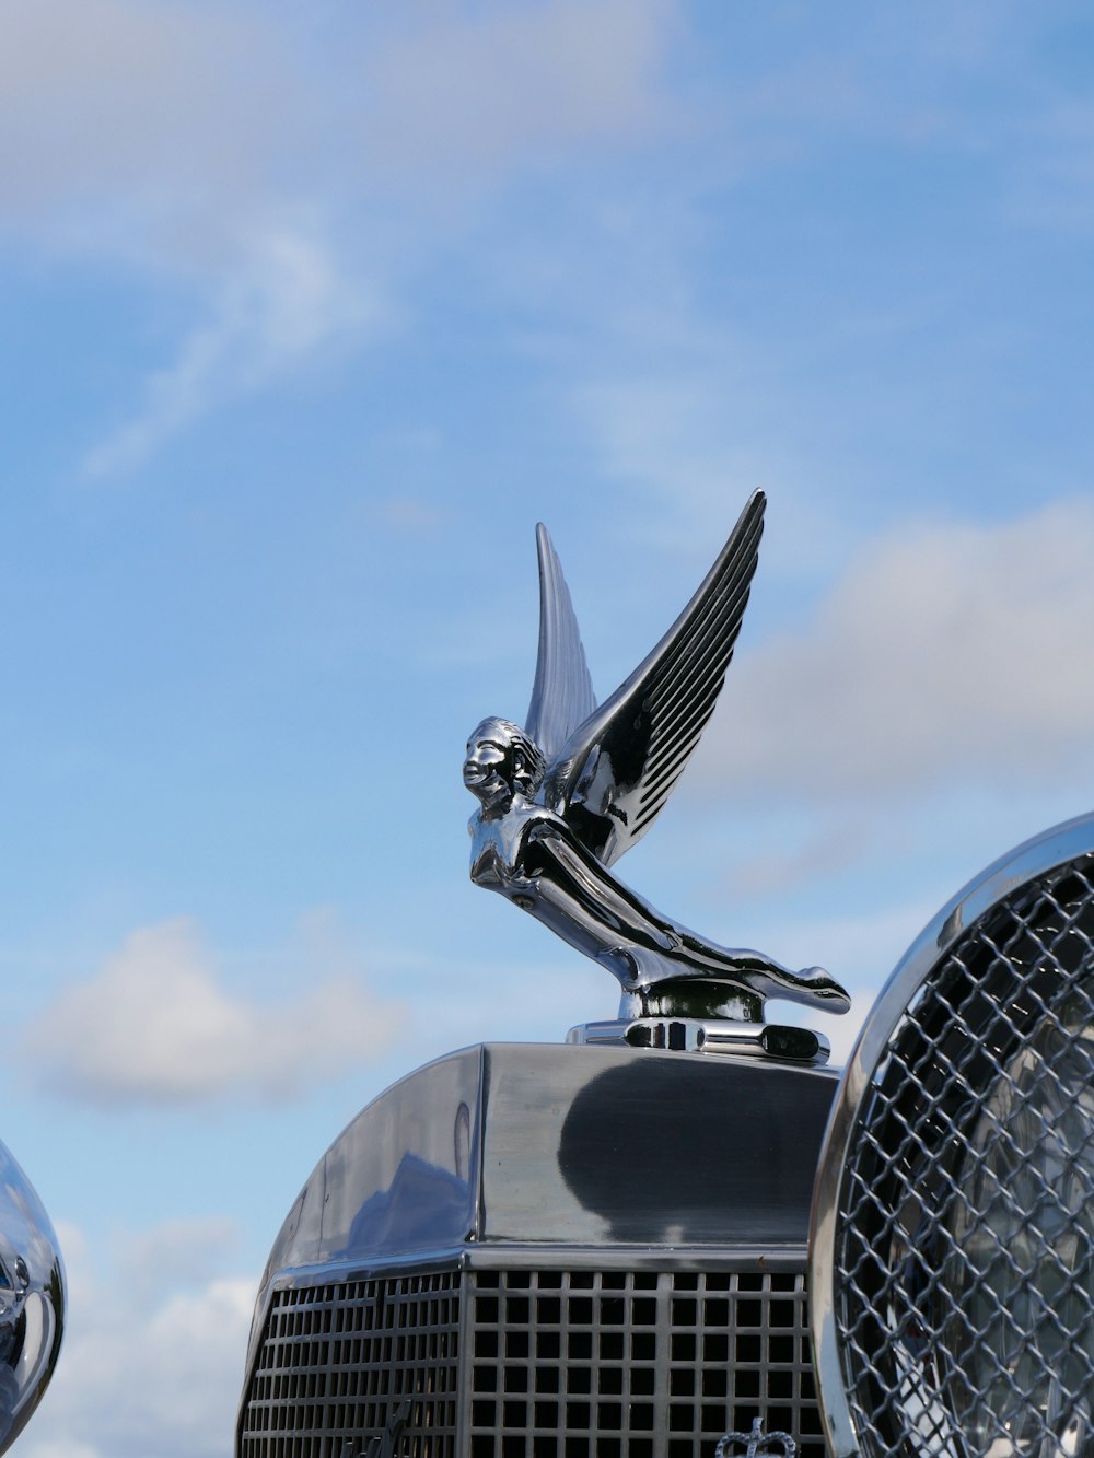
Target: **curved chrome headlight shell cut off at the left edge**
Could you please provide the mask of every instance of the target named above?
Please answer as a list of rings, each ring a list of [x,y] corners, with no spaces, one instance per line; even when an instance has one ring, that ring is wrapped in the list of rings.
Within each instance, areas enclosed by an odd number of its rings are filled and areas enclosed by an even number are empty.
[[[64,1267],[50,1217],[0,1145],[0,1452],[26,1426],[57,1365]]]

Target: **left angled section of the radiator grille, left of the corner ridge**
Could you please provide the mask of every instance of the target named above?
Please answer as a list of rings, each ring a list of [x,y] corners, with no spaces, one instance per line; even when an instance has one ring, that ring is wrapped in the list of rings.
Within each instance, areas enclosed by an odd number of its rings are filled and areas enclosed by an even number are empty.
[[[400,1423],[394,1452],[451,1458],[457,1282],[441,1271],[277,1290],[239,1458],[365,1458]]]

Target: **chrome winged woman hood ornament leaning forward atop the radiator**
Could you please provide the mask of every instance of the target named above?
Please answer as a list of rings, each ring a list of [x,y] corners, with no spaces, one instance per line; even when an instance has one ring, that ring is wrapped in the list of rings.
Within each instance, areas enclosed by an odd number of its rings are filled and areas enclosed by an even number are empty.
[[[611,868],[653,824],[722,688],[763,531],[764,496],[741,513],[710,572],[656,647],[602,704],[570,595],[537,526],[540,649],[524,728],[483,719],[467,742],[471,879],[538,917],[613,972],[636,1016],[763,1021],[764,997],[846,1012],[821,968],[794,972],[662,916]]]

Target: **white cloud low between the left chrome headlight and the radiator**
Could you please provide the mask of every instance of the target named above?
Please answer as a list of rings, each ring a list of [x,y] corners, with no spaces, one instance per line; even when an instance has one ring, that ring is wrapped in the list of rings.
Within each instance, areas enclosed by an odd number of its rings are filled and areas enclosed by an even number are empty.
[[[193,1228],[191,1228],[193,1226]],[[247,1356],[257,1282],[210,1274],[206,1244],[230,1222],[175,1220],[120,1232],[159,1258],[158,1280],[133,1280],[109,1250],[58,1228],[69,1319],[57,1375],[31,1420],[26,1458],[225,1458]],[[207,1251],[204,1260],[195,1252]]]

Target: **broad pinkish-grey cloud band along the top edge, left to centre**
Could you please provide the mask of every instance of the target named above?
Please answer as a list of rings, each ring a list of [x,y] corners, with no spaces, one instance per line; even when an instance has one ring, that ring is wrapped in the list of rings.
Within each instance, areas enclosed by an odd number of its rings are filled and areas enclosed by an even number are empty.
[[[430,201],[635,141],[668,122],[671,16],[667,0],[335,6],[319,28],[239,0],[7,0],[3,227],[214,262],[274,200]]]

